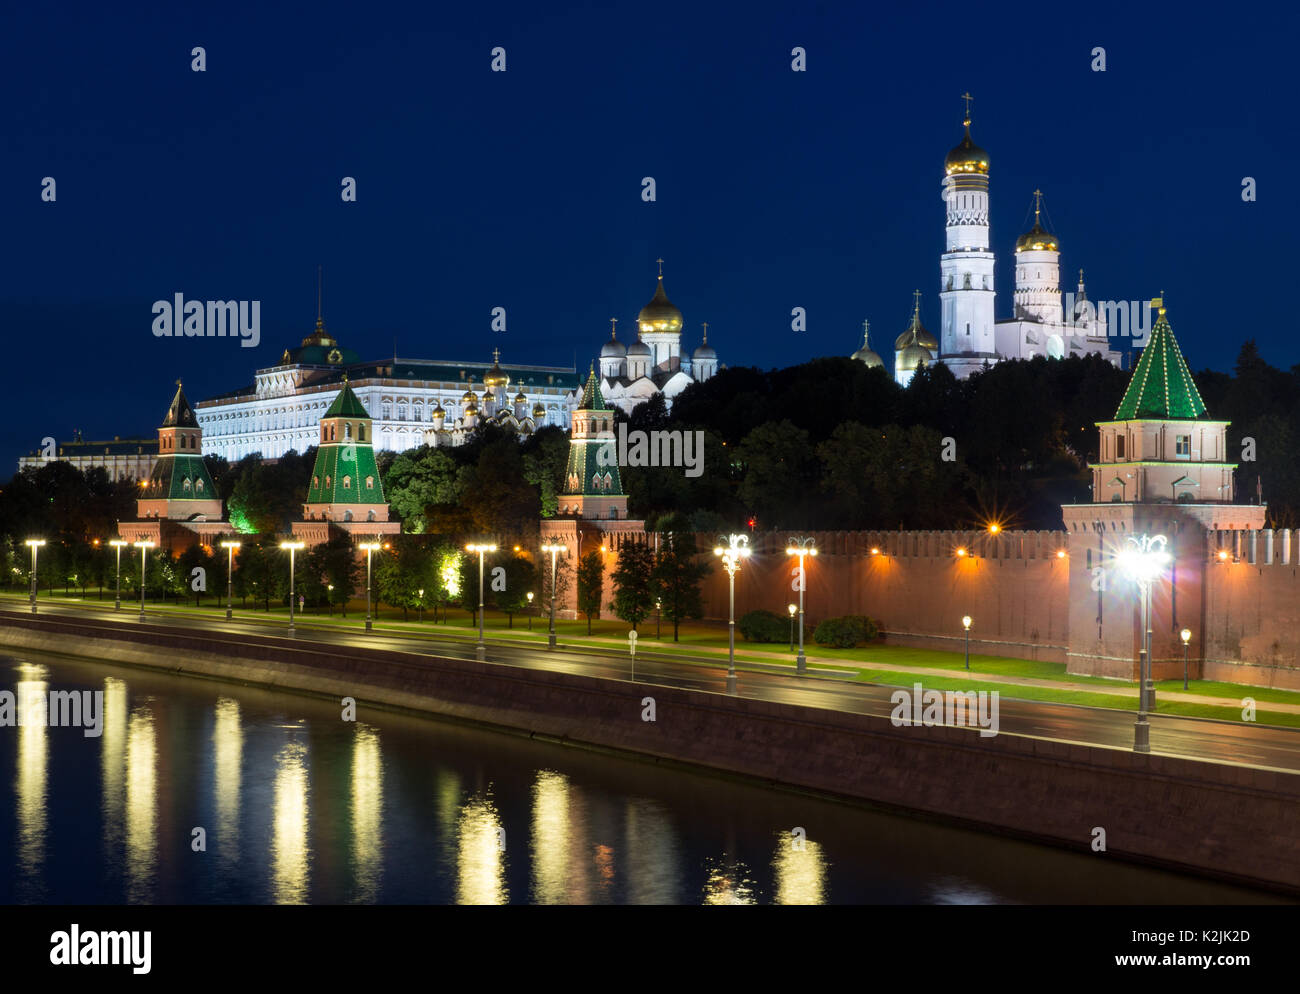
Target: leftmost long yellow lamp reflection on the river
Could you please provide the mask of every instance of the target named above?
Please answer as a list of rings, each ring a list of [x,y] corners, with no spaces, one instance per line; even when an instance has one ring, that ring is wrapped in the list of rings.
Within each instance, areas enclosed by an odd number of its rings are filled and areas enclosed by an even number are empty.
[[[18,815],[18,869],[22,900],[39,900],[44,894],[46,868],[46,790],[49,742],[46,737],[46,668],[22,664],[14,685],[18,728],[18,771],[14,777]]]

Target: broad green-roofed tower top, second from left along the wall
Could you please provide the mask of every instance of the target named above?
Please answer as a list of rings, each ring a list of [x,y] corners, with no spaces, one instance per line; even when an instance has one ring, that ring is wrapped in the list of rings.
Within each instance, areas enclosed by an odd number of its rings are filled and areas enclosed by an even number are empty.
[[[352,392],[347,377],[334,403],[321,417],[316,465],[307,487],[303,515],[308,522],[347,526],[389,520],[389,504],[374,461],[374,429],[365,405]],[[394,525],[396,522],[393,522]],[[395,529],[347,528],[348,531]],[[298,529],[295,528],[295,531]]]

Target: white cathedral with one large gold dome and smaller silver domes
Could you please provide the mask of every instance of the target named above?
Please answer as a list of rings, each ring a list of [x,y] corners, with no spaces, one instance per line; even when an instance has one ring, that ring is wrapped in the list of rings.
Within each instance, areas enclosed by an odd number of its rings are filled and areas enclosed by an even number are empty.
[[[708,325],[703,325],[699,347],[690,357],[681,351],[681,312],[663,288],[663,260],[659,285],[650,303],[637,314],[637,340],[624,346],[618,335],[618,318],[610,320],[610,340],[601,348],[601,390],[604,399],[630,414],[655,394],[671,408],[672,399],[696,382],[718,372],[718,353],[708,344]]]

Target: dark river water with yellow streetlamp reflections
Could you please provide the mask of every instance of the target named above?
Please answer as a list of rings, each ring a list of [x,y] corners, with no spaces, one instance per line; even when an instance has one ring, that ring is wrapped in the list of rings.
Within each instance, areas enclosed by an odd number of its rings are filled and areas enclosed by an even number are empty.
[[[35,655],[0,690],[104,694],[99,737],[0,728],[0,903],[1273,899],[294,694]]]

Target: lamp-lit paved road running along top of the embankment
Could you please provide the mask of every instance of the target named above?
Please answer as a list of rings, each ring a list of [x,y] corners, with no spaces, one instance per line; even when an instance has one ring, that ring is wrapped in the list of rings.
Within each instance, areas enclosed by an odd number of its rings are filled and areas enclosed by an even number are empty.
[[[73,605],[53,602],[40,604],[40,612],[42,615],[94,617],[96,620],[117,618],[127,626],[139,624],[139,611],[129,609],[126,604],[122,605],[121,612],[114,612],[112,605],[101,608],[98,603],[82,602]],[[25,609],[0,609],[0,622],[5,615],[30,617]],[[256,634],[264,638],[283,635],[285,631],[282,626],[240,621],[238,617],[234,621],[226,621],[221,617],[200,621],[165,612],[147,613],[147,624],[190,630],[202,628],[207,631],[230,634]],[[360,629],[360,620],[358,629]],[[382,633],[368,635],[360,630],[330,626],[311,628],[309,618],[306,625],[298,626],[295,641],[296,643],[318,642],[335,646],[390,648],[452,659],[474,659],[472,642],[438,638],[433,634],[416,639]],[[489,642],[488,659],[494,663],[614,680],[629,680],[632,676],[630,659],[625,654],[577,651],[572,647],[566,648],[563,644],[555,652],[547,652],[536,646]],[[725,677],[725,665],[719,665],[718,659],[712,656],[701,657],[701,661],[693,663],[682,661],[681,657],[637,654],[636,678],[642,683],[723,694],[727,689]],[[924,681],[918,677],[918,682],[923,683]],[[971,689],[979,690],[979,683],[972,681]],[[742,696],[885,717],[893,709],[889,700],[893,690],[893,687],[874,683],[823,677],[798,678],[781,673],[746,670],[740,672],[738,680],[738,693]],[[998,712],[1001,733],[1119,748],[1132,747],[1135,713],[1131,711],[1019,700],[1004,694],[1000,698]],[[1156,713],[1150,716],[1150,746],[1153,752],[1300,772],[1300,730],[1294,729]]]

